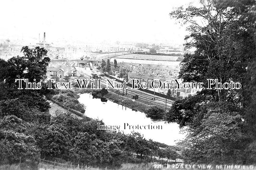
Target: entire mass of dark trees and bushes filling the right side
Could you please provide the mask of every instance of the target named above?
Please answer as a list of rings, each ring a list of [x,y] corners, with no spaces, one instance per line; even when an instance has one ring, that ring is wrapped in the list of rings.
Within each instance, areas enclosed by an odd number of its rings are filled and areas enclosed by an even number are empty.
[[[188,161],[255,163],[256,141],[256,1],[201,0],[171,12],[187,24],[184,82],[240,82],[240,90],[204,88],[196,96],[174,102],[167,120],[188,126],[180,145]],[[200,22],[199,22],[200,21]]]

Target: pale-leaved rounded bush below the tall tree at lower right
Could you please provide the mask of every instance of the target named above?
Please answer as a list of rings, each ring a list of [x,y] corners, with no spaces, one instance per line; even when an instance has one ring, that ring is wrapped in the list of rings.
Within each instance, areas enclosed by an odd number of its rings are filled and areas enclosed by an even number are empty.
[[[217,163],[243,162],[248,136],[243,133],[241,109],[227,102],[201,106],[181,144],[182,154],[190,161]]]

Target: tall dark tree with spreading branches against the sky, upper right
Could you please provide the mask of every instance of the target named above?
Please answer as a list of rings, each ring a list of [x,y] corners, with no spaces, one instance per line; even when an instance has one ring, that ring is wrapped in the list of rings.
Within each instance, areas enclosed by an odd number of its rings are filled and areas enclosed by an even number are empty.
[[[185,82],[204,82],[217,78],[219,82],[242,82],[241,75],[254,57],[255,44],[244,17],[255,2],[201,0],[202,7],[182,7],[171,12],[171,17],[189,24],[185,49],[196,48],[195,53],[186,53],[182,61],[180,77]],[[196,19],[195,19],[196,18]],[[253,19],[253,18],[252,18]],[[205,25],[196,21],[202,21]],[[244,28],[250,29],[246,30]],[[193,41],[190,41],[193,40]],[[209,91],[209,90],[208,90]],[[214,90],[214,100],[225,100],[225,90]],[[232,91],[232,93],[235,93]]]

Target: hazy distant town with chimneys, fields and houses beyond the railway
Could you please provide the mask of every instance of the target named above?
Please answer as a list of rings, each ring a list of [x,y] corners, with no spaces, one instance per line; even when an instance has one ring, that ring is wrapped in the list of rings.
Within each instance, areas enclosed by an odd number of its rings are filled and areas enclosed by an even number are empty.
[[[0,58],[8,60],[13,56],[21,56],[23,46],[44,47],[51,59],[47,68],[47,78],[57,78],[59,81],[66,77],[74,80],[85,78],[86,75],[86,78],[100,78],[107,74],[128,83],[132,83],[133,79],[138,79],[139,84],[146,84],[146,89],[175,98],[194,96],[200,90],[177,88],[177,84],[173,81],[178,79],[182,82],[178,75],[184,51],[183,47],[178,45],[116,42],[114,45],[66,44],[58,46],[48,42],[46,32],[44,32],[38,34],[38,40],[34,44],[1,40]],[[102,62],[108,60],[110,68],[106,70],[102,67]],[[154,79],[159,79],[170,87],[153,88]]]

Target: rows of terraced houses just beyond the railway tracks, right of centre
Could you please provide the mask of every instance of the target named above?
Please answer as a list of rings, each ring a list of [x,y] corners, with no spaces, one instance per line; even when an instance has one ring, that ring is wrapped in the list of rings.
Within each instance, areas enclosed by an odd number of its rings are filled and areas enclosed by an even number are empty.
[[[188,97],[194,96],[196,92],[201,89],[185,89],[181,87],[177,88],[177,84],[174,79],[177,79],[180,83],[182,83],[182,79],[178,79],[179,75],[179,67],[170,66],[170,65],[161,65],[161,64],[131,64],[131,63],[120,63],[119,64],[119,72],[128,74],[128,82],[131,83],[133,79],[138,79],[140,84],[146,83],[147,88],[149,90],[154,90],[158,93],[167,94],[168,89],[171,90],[169,95],[172,97]],[[166,83],[165,87],[163,86],[159,89],[153,89],[152,81],[154,79],[159,79],[162,83]],[[158,85],[158,82],[155,81],[153,83],[154,86]]]

